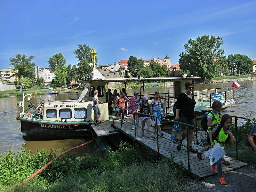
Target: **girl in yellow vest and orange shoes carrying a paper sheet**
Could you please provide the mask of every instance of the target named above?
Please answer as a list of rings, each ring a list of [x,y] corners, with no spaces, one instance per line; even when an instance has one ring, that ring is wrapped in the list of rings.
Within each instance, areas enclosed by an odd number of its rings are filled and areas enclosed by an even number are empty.
[[[224,149],[225,143],[228,142],[229,138],[232,143],[236,142],[235,137],[230,131],[230,126],[232,124],[232,117],[228,114],[225,114],[221,117],[220,125],[216,125],[212,131],[210,132],[210,142],[211,148],[217,143]],[[221,168],[221,158],[213,165],[211,165],[212,172],[215,172],[215,165],[217,164],[217,171],[219,175],[219,181],[222,185],[227,185],[224,177],[222,176],[222,168]]]

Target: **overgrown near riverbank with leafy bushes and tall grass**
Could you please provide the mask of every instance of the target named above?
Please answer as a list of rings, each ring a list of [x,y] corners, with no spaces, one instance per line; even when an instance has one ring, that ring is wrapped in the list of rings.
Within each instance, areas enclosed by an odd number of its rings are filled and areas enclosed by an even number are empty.
[[[16,157],[12,152],[1,156],[0,191],[11,191],[22,180],[46,164],[53,156],[38,151],[25,151]],[[108,150],[100,156],[77,157],[66,154],[56,160],[39,176],[16,191],[191,191],[182,168],[172,159],[159,159],[151,153],[141,154],[128,143],[121,143],[116,151]]]

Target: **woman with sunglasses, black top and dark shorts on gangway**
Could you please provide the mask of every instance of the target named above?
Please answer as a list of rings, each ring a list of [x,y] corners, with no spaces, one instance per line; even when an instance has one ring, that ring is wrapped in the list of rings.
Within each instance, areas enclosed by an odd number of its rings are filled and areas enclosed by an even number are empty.
[[[176,121],[180,121],[182,123],[195,125],[195,105],[196,101],[194,99],[194,93],[193,91],[193,84],[190,82],[187,82],[185,84],[185,93],[180,93],[177,99],[177,107],[176,107]],[[186,139],[187,137],[187,131],[186,125],[179,124],[181,131],[182,131],[182,140]],[[193,141],[193,128],[191,126],[188,126],[188,150],[192,153],[196,153],[195,149],[192,147],[192,141]],[[181,141],[182,143],[182,141]],[[181,150],[181,145],[177,146],[178,150]]]

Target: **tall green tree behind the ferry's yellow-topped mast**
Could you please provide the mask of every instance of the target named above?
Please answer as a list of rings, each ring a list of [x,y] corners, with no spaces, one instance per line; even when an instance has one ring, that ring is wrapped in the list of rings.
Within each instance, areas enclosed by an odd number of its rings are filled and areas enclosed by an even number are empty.
[[[76,58],[78,60],[78,76],[79,79],[85,80],[85,75],[88,77],[91,75],[91,69],[89,63],[93,63],[93,56],[91,54],[92,48],[85,44],[79,44],[78,49],[75,50]],[[95,67],[98,65],[98,58],[95,57]]]

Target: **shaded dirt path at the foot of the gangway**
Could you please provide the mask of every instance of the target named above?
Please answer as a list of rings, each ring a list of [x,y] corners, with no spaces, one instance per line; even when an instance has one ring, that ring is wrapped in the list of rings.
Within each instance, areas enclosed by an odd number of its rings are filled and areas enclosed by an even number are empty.
[[[217,171],[217,169],[216,169]],[[227,185],[221,185],[218,175],[207,177],[204,180],[190,180],[193,192],[255,192],[256,165],[247,165],[240,169],[223,173]]]

